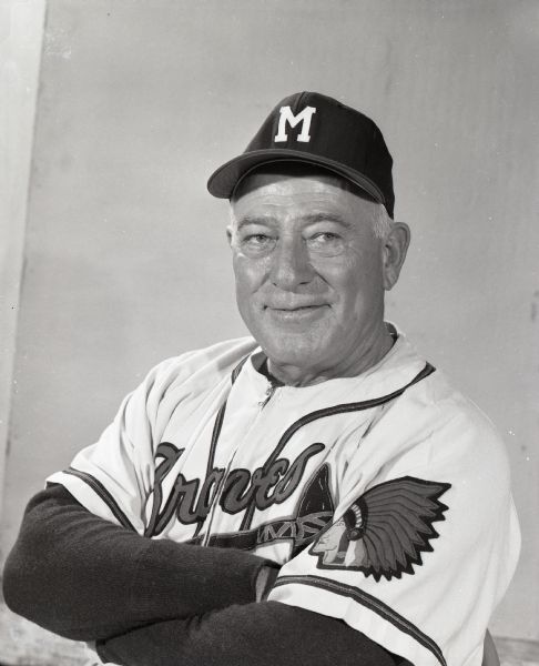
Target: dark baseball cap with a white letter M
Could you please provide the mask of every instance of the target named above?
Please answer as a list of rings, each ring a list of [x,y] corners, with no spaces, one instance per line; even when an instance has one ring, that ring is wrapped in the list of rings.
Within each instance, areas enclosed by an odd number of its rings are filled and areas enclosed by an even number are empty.
[[[230,199],[251,171],[274,162],[304,162],[336,173],[383,203],[393,218],[393,159],[367,115],[318,92],[296,92],[270,113],[245,151],[216,169],[211,194]]]

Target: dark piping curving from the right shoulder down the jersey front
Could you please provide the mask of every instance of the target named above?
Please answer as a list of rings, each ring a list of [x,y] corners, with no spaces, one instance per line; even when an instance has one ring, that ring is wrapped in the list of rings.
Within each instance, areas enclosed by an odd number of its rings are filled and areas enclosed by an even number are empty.
[[[274,448],[271,456],[265,462],[263,470],[265,471],[271,465],[273,465],[273,463],[275,462],[277,456],[281,454],[283,448],[286,446],[288,441],[292,438],[292,436],[301,427],[303,427],[304,425],[307,425],[307,423],[312,423],[313,421],[316,421],[317,418],[325,418],[326,416],[334,416],[335,414],[346,414],[347,412],[360,412],[363,410],[370,410],[372,407],[377,407],[379,405],[383,405],[387,402],[390,402],[391,400],[395,400],[399,395],[401,395],[407,389],[409,389],[414,384],[417,384],[425,377],[428,377],[428,375],[433,374],[433,372],[435,372],[435,370],[436,370],[436,367],[430,365],[430,363],[426,363],[425,367],[419,373],[417,373],[417,375],[411,380],[411,382],[408,382],[408,384],[405,384],[404,386],[401,386],[400,389],[397,389],[397,391],[394,391],[393,393],[389,393],[388,395],[384,395],[382,397],[374,397],[372,400],[365,400],[362,402],[343,403],[339,405],[333,405],[332,407],[324,407],[323,410],[316,410],[316,412],[311,412],[311,414],[305,414],[305,416],[302,416],[302,418],[298,418],[297,421],[295,421],[283,433],[283,436],[278,441],[277,446]],[[251,527],[254,508],[255,508],[254,504],[251,504],[247,507],[247,509],[245,511],[245,516],[244,516],[242,525],[240,527],[241,529],[248,529]]]

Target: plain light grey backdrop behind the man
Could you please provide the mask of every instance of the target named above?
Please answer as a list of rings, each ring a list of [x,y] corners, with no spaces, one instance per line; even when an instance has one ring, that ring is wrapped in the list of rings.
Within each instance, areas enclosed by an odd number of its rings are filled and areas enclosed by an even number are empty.
[[[413,242],[387,317],[502,433],[523,549],[491,630],[539,640],[539,3],[4,0],[0,36],[2,559],[153,364],[245,334],[205,182],[316,90],[394,155]],[[0,659],[69,649],[0,619]]]

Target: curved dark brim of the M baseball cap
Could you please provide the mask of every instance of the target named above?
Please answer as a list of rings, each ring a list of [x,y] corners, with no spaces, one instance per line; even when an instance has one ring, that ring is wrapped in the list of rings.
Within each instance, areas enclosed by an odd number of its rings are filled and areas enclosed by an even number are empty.
[[[217,196],[217,199],[231,199],[237,184],[247,175],[247,173],[258,167],[262,167],[263,164],[272,164],[275,162],[303,162],[305,164],[322,167],[323,169],[327,169],[328,171],[332,171],[333,173],[352,181],[367,194],[373,196],[375,201],[386,205],[384,195],[378,186],[359,171],[349,169],[328,158],[311,154],[299,150],[287,149],[272,148],[265,150],[254,150],[242,153],[241,155],[237,155],[237,158],[228,160],[228,162],[225,162],[212,173],[207,181],[207,190],[210,194]]]

